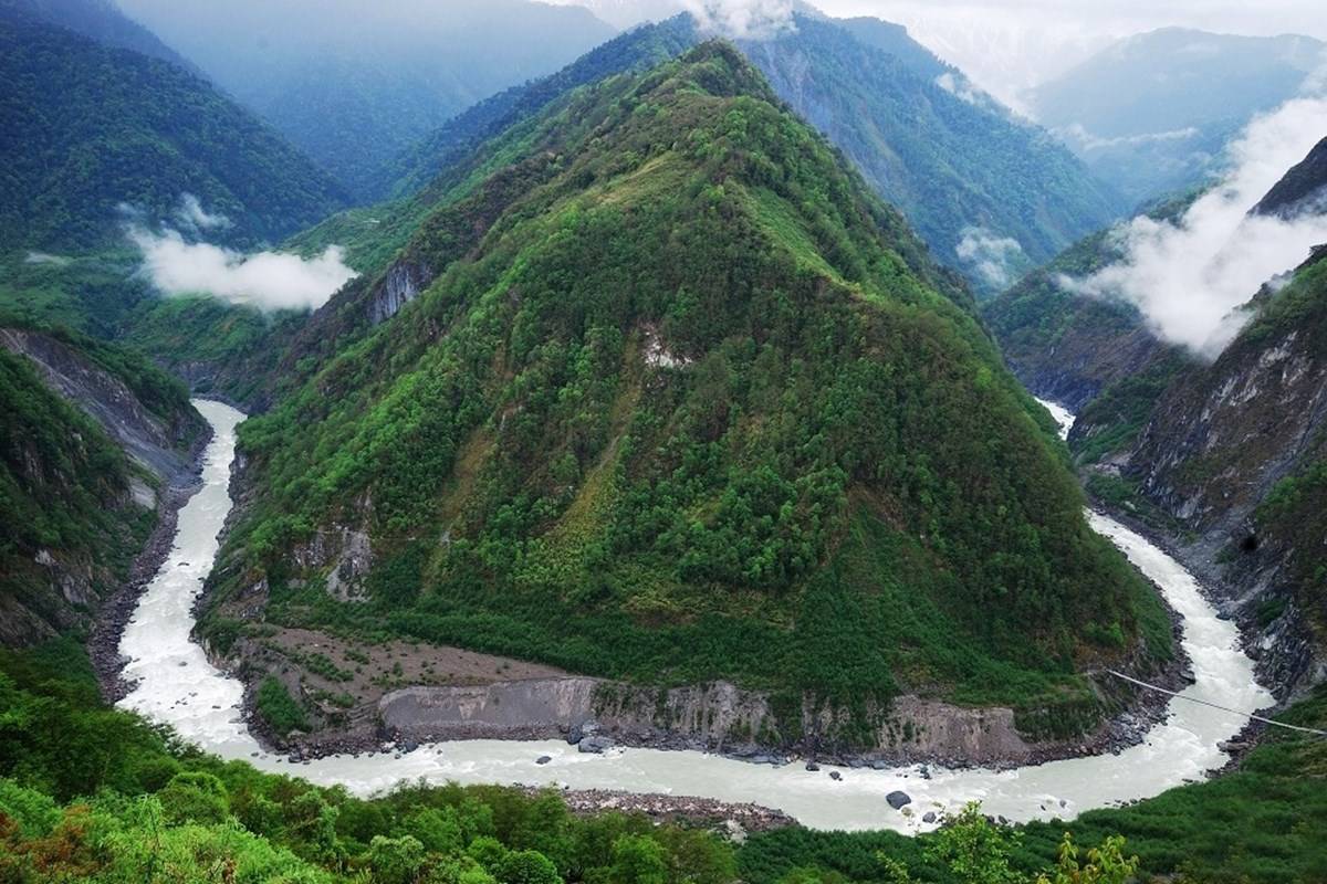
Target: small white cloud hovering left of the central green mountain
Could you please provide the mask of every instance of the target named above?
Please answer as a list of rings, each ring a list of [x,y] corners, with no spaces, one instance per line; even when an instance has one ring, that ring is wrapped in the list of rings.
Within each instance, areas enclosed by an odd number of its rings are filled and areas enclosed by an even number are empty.
[[[337,247],[305,260],[299,254],[240,254],[207,243],[187,243],[178,231],[129,228],[143,253],[143,272],[166,294],[211,294],[260,310],[317,309],[356,273]]]

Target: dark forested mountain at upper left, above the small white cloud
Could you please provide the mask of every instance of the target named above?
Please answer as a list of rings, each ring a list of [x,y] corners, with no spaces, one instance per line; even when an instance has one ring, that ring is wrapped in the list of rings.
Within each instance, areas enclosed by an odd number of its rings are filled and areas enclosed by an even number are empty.
[[[337,186],[196,76],[0,8],[0,248],[119,243],[129,217],[179,223],[186,195],[216,233],[281,239],[344,205]],[[222,221],[216,221],[222,224]]]

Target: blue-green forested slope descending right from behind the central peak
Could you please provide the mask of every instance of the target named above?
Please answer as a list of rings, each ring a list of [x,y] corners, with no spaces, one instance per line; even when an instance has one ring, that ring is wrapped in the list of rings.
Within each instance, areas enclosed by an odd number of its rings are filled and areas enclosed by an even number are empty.
[[[936,256],[983,290],[1121,213],[1111,188],[1046,131],[1016,121],[901,29],[807,16],[796,25],[743,49]]]

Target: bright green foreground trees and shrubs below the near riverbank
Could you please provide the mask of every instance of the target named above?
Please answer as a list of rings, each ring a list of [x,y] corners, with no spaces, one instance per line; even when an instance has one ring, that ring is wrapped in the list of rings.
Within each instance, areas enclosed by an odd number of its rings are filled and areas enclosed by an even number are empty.
[[[1327,691],[1286,720],[1327,725]],[[1137,880],[1314,884],[1327,875],[1324,746],[1270,733],[1239,770],[1088,812],[1072,838],[1060,823],[999,827],[973,806],[920,838],[784,828],[731,844],[644,816],[573,816],[556,793],[403,786],[365,801],[222,762],[101,706],[65,639],[0,651],[0,880],[1124,884],[1137,863]]]

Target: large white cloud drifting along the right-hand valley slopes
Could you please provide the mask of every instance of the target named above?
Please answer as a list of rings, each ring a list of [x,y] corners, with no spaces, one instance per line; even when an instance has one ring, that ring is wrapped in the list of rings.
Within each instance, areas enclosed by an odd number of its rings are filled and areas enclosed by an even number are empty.
[[[1327,243],[1327,216],[1250,216],[1327,131],[1327,98],[1295,98],[1254,119],[1230,171],[1176,221],[1136,217],[1115,232],[1124,257],[1068,290],[1129,301],[1161,338],[1216,358],[1247,321],[1258,289]]]

